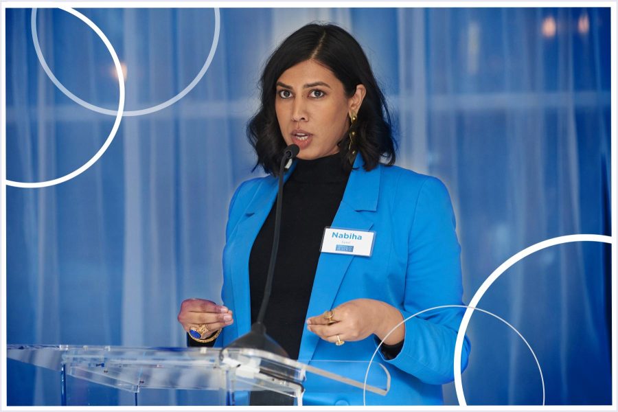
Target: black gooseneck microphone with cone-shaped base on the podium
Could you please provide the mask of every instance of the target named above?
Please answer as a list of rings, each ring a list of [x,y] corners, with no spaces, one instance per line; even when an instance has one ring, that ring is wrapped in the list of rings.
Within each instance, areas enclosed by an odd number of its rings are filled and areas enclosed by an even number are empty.
[[[271,298],[271,291],[273,289],[273,277],[275,273],[275,261],[277,260],[277,251],[279,250],[279,235],[281,232],[281,208],[283,203],[283,175],[284,167],[286,163],[292,161],[297,157],[300,152],[300,148],[295,144],[284,149],[281,163],[279,164],[279,191],[277,192],[277,206],[275,209],[275,231],[273,233],[273,248],[271,249],[271,260],[268,262],[268,273],[266,274],[266,286],[264,287],[264,297],[262,298],[262,304],[260,305],[260,312],[258,312],[258,318],[255,319],[255,323],[251,325],[251,332],[240,336],[240,338],[232,341],[226,347],[250,347],[252,349],[265,350],[272,352],[280,356],[289,358],[288,353],[284,350],[279,343],[277,343],[271,336],[266,334],[266,327],[264,326],[264,316],[266,315],[266,307],[268,306],[268,300]]]

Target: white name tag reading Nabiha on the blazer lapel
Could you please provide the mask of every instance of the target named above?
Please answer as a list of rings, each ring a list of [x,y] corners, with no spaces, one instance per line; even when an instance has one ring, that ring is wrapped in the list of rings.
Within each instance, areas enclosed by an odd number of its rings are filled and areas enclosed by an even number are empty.
[[[371,256],[375,235],[376,232],[372,231],[327,227],[324,229],[321,251],[343,255]]]

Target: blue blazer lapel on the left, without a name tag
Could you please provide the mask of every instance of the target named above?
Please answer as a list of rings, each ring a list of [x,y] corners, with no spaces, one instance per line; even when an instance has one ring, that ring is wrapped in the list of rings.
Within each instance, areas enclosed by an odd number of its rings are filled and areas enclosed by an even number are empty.
[[[284,181],[292,173],[296,162],[284,175]],[[263,179],[260,187],[255,190],[255,195],[247,209],[244,218],[236,227],[236,247],[233,248],[233,262],[231,263],[231,281],[236,303],[235,319],[238,327],[238,336],[242,336],[251,330],[251,297],[249,295],[249,257],[255,238],[258,237],[264,221],[273,208],[277,198],[278,179],[272,177]],[[224,302],[225,303],[225,302]]]

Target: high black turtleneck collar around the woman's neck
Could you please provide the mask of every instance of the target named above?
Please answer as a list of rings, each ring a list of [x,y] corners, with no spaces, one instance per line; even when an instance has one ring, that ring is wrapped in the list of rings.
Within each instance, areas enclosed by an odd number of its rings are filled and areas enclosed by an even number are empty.
[[[341,183],[347,181],[350,170],[343,168],[339,153],[319,159],[296,159],[296,168],[290,181],[299,183]]]

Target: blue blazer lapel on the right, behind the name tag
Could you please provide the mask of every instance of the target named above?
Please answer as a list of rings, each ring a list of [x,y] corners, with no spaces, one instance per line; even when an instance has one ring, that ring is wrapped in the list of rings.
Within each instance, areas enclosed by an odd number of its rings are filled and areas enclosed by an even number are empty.
[[[380,189],[380,168],[382,166],[378,165],[374,170],[366,172],[363,165],[362,157],[357,156],[354,162],[354,170],[350,174],[343,200],[334,217],[332,227],[368,231],[374,225],[373,216],[363,213],[363,211],[376,211]],[[343,276],[352,259],[354,259],[353,255],[320,254],[307,308],[307,317],[313,317],[332,309],[334,299],[339,292],[339,286],[341,286]],[[319,336],[305,328],[301,339],[299,360],[310,360],[319,340]]]

